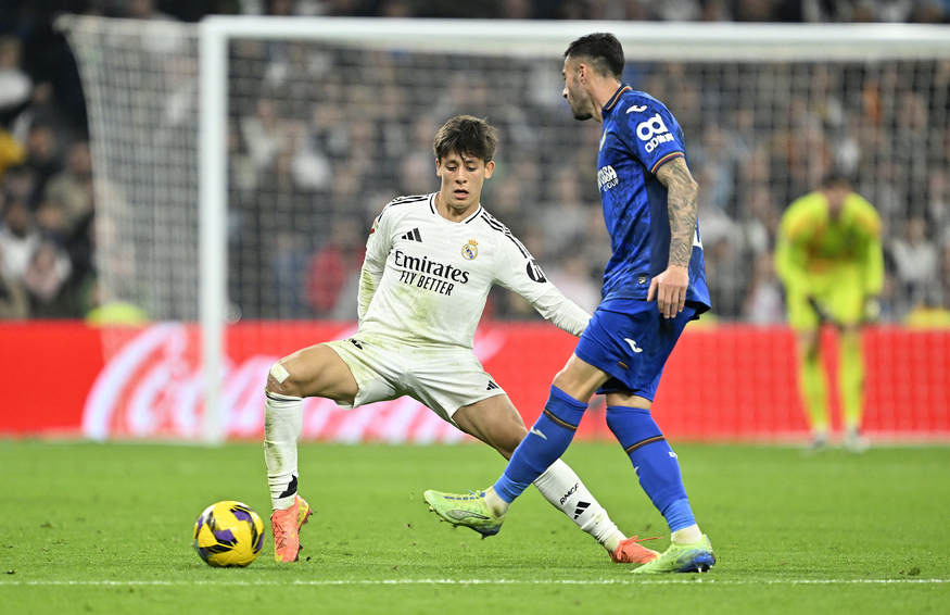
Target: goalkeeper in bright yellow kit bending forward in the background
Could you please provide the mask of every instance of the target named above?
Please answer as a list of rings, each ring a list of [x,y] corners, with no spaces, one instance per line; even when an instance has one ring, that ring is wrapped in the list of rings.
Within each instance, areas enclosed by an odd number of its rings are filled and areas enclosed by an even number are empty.
[[[775,268],[785,285],[788,323],[798,338],[800,384],[812,447],[828,441],[828,407],[819,330],[841,334],[839,390],[845,447],[866,449],[861,437],[864,365],[861,325],[877,317],[884,284],[881,217],[845,177],[828,175],[821,188],[794,201],[782,216]]]

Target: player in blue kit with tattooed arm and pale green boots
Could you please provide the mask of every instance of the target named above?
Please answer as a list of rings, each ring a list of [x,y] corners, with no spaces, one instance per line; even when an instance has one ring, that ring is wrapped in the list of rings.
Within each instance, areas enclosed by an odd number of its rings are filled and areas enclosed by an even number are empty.
[[[650,415],[680,334],[710,306],[683,131],[660,101],[621,83],[623,49],[613,35],[581,37],[563,59],[574,118],[604,125],[597,180],[613,254],[603,299],[497,482],[465,495],[427,491],[425,499],[453,525],[497,534],[509,504],[567,450],[591,397],[604,393],[607,425],[672,532],[670,548],[634,573],[706,572],[715,563],[712,545],[693,515],[676,454]]]

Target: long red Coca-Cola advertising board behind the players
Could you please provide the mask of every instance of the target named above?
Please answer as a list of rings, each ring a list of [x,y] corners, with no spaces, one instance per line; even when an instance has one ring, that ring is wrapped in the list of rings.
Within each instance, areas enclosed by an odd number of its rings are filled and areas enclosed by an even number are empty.
[[[228,437],[262,437],[263,387],[277,359],[354,331],[350,323],[230,326],[223,403]],[[825,338],[836,341],[832,332]],[[663,375],[657,423],[680,440],[803,437],[794,344],[784,327],[691,326]],[[950,331],[881,327],[866,332],[864,344],[866,432],[950,439]],[[494,323],[479,328],[474,352],[530,424],[573,346],[574,338],[544,323]],[[198,328],[180,323],[109,331],[78,322],[0,324],[0,436],[199,438],[200,348]],[[828,367],[834,372],[834,363]],[[603,398],[592,402],[579,437],[611,437]],[[349,412],[312,399],[303,438],[453,442],[463,436],[408,398]]]

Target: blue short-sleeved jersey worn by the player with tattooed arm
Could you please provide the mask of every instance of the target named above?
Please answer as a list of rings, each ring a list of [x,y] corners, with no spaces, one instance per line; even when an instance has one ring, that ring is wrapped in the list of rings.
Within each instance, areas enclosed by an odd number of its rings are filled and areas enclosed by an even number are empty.
[[[604,271],[604,301],[646,300],[654,276],[670,259],[667,187],[655,175],[666,162],[686,159],[683,129],[663,103],[621,85],[604,106],[597,183],[613,255]],[[709,310],[699,223],[689,260],[686,301]]]

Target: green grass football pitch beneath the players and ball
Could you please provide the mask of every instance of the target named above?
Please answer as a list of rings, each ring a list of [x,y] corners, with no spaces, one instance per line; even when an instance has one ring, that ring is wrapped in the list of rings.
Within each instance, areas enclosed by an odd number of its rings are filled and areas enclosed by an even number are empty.
[[[0,440],[0,612],[948,613],[950,448],[675,445],[719,563],[638,578],[533,488],[498,536],[439,523],[422,491],[490,485],[482,444],[303,444],[316,514],[302,561],[273,561],[257,443],[201,448]],[[616,444],[565,460],[625,532],[669,531]],[[191,547],[205,506],[240,500],[267,526],[248,568]]]

